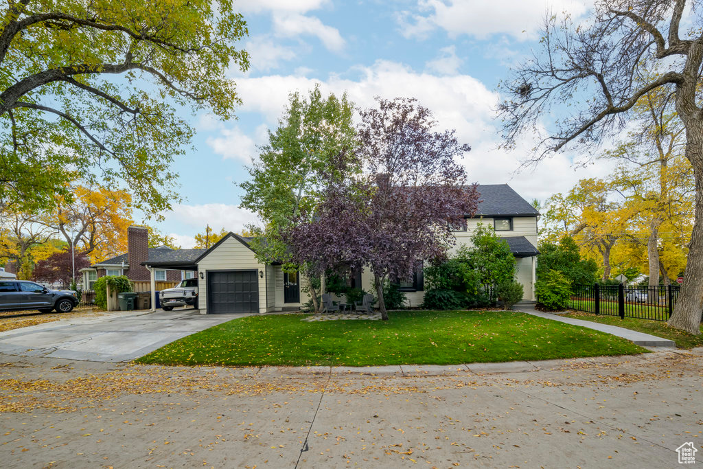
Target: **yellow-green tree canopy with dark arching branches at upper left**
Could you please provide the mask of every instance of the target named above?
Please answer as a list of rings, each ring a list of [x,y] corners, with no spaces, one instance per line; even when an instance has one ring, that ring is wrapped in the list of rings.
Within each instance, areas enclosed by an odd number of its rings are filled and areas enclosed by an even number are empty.
[[[15,0],[0,9],[0,203],[70,198],[66,181],[124,186],[157,212],[191,105],[228,118],[247,34],[231,0]]]

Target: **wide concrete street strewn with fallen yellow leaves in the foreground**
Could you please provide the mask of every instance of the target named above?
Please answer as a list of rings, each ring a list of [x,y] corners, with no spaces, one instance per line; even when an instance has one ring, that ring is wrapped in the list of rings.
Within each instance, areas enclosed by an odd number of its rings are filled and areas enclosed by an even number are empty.
[[[6,468],[673,468],[685,442],[703,463],[703,349],[474,373],[0,364]]]

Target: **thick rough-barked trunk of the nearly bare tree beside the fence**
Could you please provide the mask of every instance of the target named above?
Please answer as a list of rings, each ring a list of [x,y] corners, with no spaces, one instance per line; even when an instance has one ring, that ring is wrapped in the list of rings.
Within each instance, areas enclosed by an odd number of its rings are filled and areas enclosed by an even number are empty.
[[[669,326],[699,335],[703,311],[703,124],[686,129],[686,158],[695,178],[695,217],[681,293],[668,321]]]

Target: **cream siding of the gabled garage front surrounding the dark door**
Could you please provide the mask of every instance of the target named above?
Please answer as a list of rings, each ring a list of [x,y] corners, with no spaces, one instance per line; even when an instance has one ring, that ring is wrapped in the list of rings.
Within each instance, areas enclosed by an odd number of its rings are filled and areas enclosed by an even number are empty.
[[[198,272],[203,272],[205,278],[198,276],[198,306],[201,313],[207,313],[207,271],[213,270],[252,270],[263,271],[266,268],[254,257],[254,252],[240,243],[236,238],[229,237],[198,262]],[[266,282],[257,275],[259,282],[259,313],[266,312]],[[270,293],[269,293],[270,294]]]

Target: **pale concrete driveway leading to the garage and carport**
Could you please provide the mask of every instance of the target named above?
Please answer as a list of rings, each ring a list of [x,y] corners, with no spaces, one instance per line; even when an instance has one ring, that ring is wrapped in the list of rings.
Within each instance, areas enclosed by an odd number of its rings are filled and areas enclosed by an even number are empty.
[[[115,313],[39,324],[0,333],[0,353],[88,361],[129,361],[174,340],[249,314],[195,309]]]

